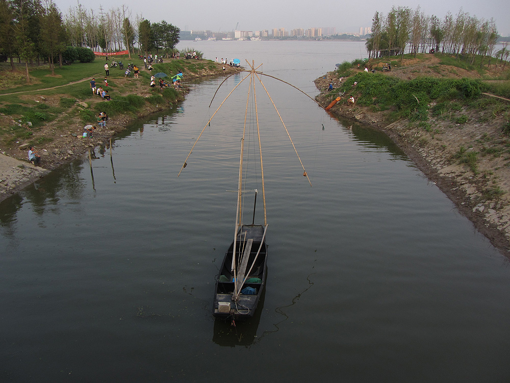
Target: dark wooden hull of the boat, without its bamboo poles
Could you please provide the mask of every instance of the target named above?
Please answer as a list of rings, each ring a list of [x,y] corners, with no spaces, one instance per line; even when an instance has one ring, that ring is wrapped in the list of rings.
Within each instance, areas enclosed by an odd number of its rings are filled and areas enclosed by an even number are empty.
[[[238,300],[233,300],[235,296],[235,281],[234,275],[231,272],[234,252],[234,242],[232,242],[225,253],[220,272],[216,278],[213,301],[213,315],[216,318],[246,320],[253,316],[259,304],[267,274],[267,244],[264,237],[264,226],[242,225],[237,234],[236,254],[243,253],[248,240],[252,240],[248,265],[251,265],[253,261],[254,264],[240,290],[243,291],[245,288],[251,288],[255,289],[255,292],[254,294],[240,294]],[[261,250],[256,258],[259,248]],[[246,273],[248,273],[248,270],[246,270]]]

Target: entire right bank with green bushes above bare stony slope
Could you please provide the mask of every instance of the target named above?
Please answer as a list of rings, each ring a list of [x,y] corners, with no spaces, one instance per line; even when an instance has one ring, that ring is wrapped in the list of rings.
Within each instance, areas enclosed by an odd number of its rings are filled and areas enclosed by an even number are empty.
[[[388,58],[341,64],[315,81],[317,101],[326,106],[341,95],[332,113],[349,118],[347,126],[387,133],[495,246],[510,251],[509,66],[468,70],[438,55],[390,59],[391,72],[379,66]]]

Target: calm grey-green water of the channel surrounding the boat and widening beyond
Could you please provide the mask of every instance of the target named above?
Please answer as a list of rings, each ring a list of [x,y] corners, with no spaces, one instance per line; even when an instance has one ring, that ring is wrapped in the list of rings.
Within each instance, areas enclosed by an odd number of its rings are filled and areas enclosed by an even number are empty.
[[[311,95],[313,79],[363,56],[359,43],[182,45],[263,62]],[[267,290],[250,323],[212,318],[244,91],[177,173],[240,79],[211,109],[222,79],[194,85],[112,158],[96,149],[92,174],[76,161],[0,204],[0,381],[219,382],[237,368],[242,381],[507,381],[507,258],[388,137],[269,79],[313,187],[259,87]]]

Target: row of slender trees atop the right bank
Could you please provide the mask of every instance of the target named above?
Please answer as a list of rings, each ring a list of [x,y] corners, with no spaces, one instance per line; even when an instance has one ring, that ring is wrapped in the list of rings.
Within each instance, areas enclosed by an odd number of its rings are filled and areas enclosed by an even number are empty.
[[[471,64],[481,56],[480,65],[491,58],[508,58],[506,47],[494,52],[498,40],[494,19],[479,19],[462,9],[454,17],[448,12],[441,20],[425,15],[420,7],[393,7],[385,16],[375,12],[372,33],[366,42],[369,58],[408,53],[443,53],[455,55]],[[506,55],[506,56],[505,56]]]

